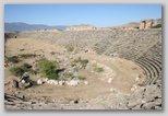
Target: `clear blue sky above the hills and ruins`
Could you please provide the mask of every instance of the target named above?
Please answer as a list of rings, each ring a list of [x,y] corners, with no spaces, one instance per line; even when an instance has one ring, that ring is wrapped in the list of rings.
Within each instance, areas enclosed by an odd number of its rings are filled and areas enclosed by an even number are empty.
[[[96,27],[161,19],[161,4],[5,4],[4,22]]]

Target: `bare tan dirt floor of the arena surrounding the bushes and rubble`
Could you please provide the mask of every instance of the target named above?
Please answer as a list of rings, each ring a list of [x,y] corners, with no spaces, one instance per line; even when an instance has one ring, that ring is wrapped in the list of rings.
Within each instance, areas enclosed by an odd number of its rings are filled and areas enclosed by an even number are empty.
[[[22,50],[21,50],[22,49]],[[5,44],[5,55],[17,56],[19,54],[40,54],[44,53],[47,59],[56,58],[55,53],[63,53],[65,48],[63,46],[58,46],[55,44],[49,44],[45,40],[33,39],[33,38],[11,38]],[[144,71],[136,66],[134,62],[121,59],[117,57],[109,57],[104,55],[97,55],[94,51],[80,51],[77,54],[69,53],[62,54],[58,57],[70,58],[70,57],[81,57],[88,59],[91,62],[96,62],[104,67],[103,72],[92,72],[89,70],[83,69],[79,73],[86,78],[88,84],[80,83],[76,86],[71,85],[50,85],[43,84],[38,86],[33,86],[26,90],[15,90],[11,86],[12,79],[17,77],[12,76],[9,71],[13,66],[20,66],[21,63],[28,62],[32,63],[36,58],[27,58],[16,65],[12,65],[4,69],[4,92],[8,94],[24,94],[27,98],[41,100],[43,97],[60,101],[71,101],[77,98],[94,98],[103,94],[109,94],[110,89],[115,88],[120,93],[132,94],[131,86],[137,84],[135,82],[136,76],[146,77]],[[112,78],[111,83],[108,83],[109,77]],[[31,79],[37,81],[38,76],[31,76]],[[8,84],[9,83],[9,84]]]

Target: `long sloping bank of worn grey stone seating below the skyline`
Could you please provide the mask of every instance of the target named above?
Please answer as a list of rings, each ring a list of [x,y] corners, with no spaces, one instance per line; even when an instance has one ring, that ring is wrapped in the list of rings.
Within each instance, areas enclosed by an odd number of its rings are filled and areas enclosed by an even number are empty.
[[[60,33],[51,32],[26,32],[20,33],[19,37],[47,39],[50,43],[67,46],[73,45],[76,49],[94,49],[98,55],[118,54],[129,60],[144,56],[152,48],[158,50],[161,38],[160,30],[103,30],[103,31],[68,31]],[[154,46],[156,45],[156,46]],[[160,49],[160,48],[159,48]],[[157,53],[157,51],[153,51]],[[148,54],[147,54],[148,55]]]

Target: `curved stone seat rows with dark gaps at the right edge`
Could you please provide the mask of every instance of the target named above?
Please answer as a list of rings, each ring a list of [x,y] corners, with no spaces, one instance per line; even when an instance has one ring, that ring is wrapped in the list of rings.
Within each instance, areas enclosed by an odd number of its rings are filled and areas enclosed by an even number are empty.
[[[135,62],[145,71],[147,76],[146,84],[152,84],[161,78],[160,57],[141,57]]]

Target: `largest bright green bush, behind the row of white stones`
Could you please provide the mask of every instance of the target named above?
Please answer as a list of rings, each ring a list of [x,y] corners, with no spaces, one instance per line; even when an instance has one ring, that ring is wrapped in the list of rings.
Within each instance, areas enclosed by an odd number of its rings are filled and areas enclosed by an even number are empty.
[[[44,58],[39,60],[37,67],[44,77],[48,79],[59,80],[59,72],[57,71],[58,63],[56,61],[49,61]]]

